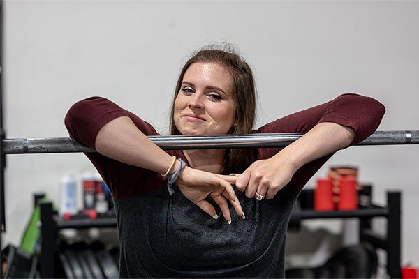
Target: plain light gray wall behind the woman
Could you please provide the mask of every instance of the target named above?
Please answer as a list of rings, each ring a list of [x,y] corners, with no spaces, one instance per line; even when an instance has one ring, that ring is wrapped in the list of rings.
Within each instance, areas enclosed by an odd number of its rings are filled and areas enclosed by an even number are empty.
[[[419,129],[418,1],[6,1],[4,6],[8,137],[66,137],[68,108],[95,95],[166,133],[179,67],[191,50],[223,40],[238,45],[256,73],[258,125],[357,92],[387,107],[379,130]],[[327,164],[358,165],[360,181],[374,183],[377,202],[385,202],[388,189],[403,191],[403,262],[416,264],[418,151],[419,146],[352,147]],[[80,176],[91,169],[82,154],[8,156],[3,240],[20,241],[33,192],[45,191],[57,201],[61,174]],[[326,167],[316,176],[325,172]],[[304,230],[316,237],[299,245],[291,234],[288,251],[309,259],[309,252],[325,250],[323,236],[341,239],[345,226],[307,224]],[[325,230],[329,236],[319,234]]]

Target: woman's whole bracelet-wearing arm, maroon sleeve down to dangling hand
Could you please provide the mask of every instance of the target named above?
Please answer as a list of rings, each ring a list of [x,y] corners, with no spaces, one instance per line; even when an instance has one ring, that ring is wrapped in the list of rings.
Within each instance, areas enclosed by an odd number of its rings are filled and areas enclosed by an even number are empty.
[[[145,135],[145,133],[156,135],[154,128],[138,119],[138,116],[122,110],[115,103],[104,98],[88,98],[73,105],[66,116],[66,126],[71,137],[82,144],[94,147],[103,155],[101,157],[106,160],[101,158],[101,160],[92,161],[96,167],[101,168],[103,165],[107,167],[108,172],[112,172],[111,176],[126,176],[126,172],[118,172],[115,169],[125,170],[129,168],[128,165],[164,174],[172,163],[172,157]],[[126,167],[121,167],[121,164],[115,165],[115,160],[127,164]],[[170,172],[174,172],[177,167],[179,165],[172,167]],[[134,169],[136,171],[138,168]],[[111,179],[115,181],[115,177]],[[219,204],[226,220],[230,220],[228,204],[224,197],[232,201],[233,207],[240,216],[243,212],[240,203],[233,202],[236,199],[235,193],[226,179],[234,182],[230,177],[226,178],[186,167],[177,183],[183,188],[188,188],[185,195],[187,198],[214,216],[216,214],[214,207],[205,200],[207,195],[211,195]],[[182,187],[180,187],[181,190]]]

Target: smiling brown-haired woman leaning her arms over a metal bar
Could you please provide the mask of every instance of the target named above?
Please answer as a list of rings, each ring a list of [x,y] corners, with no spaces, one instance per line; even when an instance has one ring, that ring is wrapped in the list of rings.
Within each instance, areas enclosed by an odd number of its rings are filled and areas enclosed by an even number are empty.
[[[372,98],[344,94],[252,131],[255,104],[248,64],[205,47],[179,75],[170,133],[305,135],[283,149],[163,151],[148,140],[158,135],[149,123],[110,100],[71,107],[66,127],[96,148],[86,155],[112,191],[120,277],[283,278],[300,190],[332,153],[374,133],[385,112]]]

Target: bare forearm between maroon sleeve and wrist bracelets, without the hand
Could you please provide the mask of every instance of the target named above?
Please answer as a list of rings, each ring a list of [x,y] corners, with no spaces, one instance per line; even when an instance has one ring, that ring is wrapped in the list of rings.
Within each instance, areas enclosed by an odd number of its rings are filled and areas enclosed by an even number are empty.
[[[120,162],[164,174],[172,158],[135,126],[128,116],[108,122],[96,136],[98,153]]]

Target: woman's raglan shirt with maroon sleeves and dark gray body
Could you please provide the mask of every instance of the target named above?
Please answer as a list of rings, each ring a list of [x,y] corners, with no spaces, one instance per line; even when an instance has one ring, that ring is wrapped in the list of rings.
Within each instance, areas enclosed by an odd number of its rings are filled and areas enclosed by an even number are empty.
[[[332,122],[355,131],[353,144],[374,133],[385,107],[356,94],[277,119],[254,133],[307,133]],[[94,148],[101,128],[128,116],[145,135],[159,135],[147,122],[110,100],[92,97],[75,103],[66,115],[70,136]],[[330,140],[330,139],[327,139]],[[274,156],[281,148],[248,149],[249,164]],[[182,151],[166,151],[188,162]],[[87,153],[110,187],[117,212],[120,277],[284,277],[286,228],[302,187],[330,156],[301,167],[274,199],[247,199],[236,190],[246,220],[214,220],[175,188],[168,194],[160,174],[127,165],[99,153]],[[211,202],[211,201],[210,201]]]

